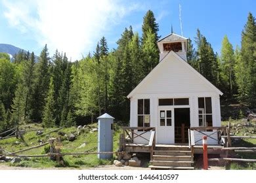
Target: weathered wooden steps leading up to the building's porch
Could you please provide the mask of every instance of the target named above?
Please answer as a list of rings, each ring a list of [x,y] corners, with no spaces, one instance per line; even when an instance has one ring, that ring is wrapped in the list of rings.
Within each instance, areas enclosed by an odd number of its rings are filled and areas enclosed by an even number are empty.
[[[191,150],[188,146],[156,146],[153,152],[151,169],[194,169]]]

